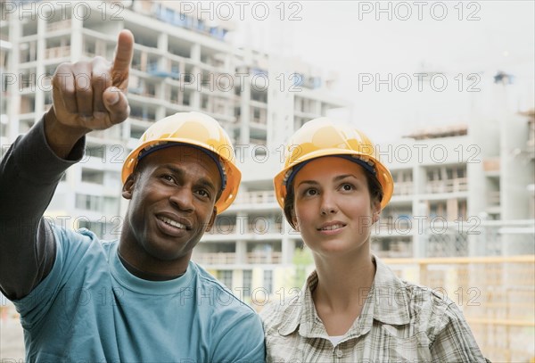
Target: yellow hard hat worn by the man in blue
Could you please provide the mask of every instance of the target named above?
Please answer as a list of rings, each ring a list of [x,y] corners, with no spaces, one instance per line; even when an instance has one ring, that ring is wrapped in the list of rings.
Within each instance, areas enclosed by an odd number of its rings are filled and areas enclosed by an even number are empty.
[[[136,169],[137,161],[148,151],[173,144],[186,144],[207,153],[218,164],[222,192],[216,201],[218,213],[235,200],[242,173],[235,166],[234,147],[217,120],[200,112],[178,112],[155,122],[139,139],[139,145],[123,164],[123,184]]]

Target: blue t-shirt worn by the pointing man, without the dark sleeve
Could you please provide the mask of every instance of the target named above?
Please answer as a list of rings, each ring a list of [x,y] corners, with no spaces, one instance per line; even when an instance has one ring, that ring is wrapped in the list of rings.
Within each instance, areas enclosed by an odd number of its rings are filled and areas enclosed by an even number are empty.
[[[190,261],[169,281],[133,276],[117,241],[53,227],[52,271],[21,300],[29,362],[263,362],[258,315]]]

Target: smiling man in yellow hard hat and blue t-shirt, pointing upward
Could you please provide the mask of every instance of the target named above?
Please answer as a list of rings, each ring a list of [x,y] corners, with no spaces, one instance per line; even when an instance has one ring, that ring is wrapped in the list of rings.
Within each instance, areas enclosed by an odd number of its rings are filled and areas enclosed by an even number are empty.
[[[119,240],[43,219],[86,134],[127,119],[133,45],[123,30],[111,66],[60,65],[53,107],[0,164],[0,287],[21,314],[26,360],[263,361],[253,309],[190,260],[241,179],[216,120],[177,113],[146,130],[122,169]]]

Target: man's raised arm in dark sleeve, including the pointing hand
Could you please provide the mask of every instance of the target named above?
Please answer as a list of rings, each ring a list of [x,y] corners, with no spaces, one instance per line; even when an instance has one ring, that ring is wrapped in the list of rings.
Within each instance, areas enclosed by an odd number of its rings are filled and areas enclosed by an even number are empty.
[[[53,76],[53,107],[0,163],[0,287],[21,299],[48,275],[55,258],[43,219],[63,172],[84,153],[84,136],[129,113],[126,90],[134,37],[119,34],[113,62],[63,63]]]

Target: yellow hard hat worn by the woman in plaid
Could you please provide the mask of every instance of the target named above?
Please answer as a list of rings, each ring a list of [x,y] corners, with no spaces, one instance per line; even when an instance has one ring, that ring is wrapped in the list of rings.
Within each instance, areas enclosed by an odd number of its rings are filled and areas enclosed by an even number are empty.
[[[382,209],[391,200],[394,191],[391,172],[380,161],[371,140],[349,124],[325,117],[310,120],[288,140],[284,153],[284,168],[273,179],[276,201],[283,209],[286,187],[292,184],[293,176],[304,165],[302,163],[330,155],[352,158],[377,177],[383,186]]]

